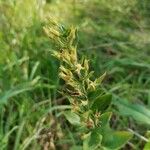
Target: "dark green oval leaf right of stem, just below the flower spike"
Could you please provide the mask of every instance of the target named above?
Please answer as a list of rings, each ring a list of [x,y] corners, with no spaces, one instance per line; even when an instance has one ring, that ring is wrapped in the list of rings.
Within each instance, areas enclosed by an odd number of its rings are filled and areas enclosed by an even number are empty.
[[[111,99],[112,99],[111,94],[105,94],[103,96],[99,96],[94,100],[91,109],[94,111],[98,110],[103,112],[109,107],[111,103]]]

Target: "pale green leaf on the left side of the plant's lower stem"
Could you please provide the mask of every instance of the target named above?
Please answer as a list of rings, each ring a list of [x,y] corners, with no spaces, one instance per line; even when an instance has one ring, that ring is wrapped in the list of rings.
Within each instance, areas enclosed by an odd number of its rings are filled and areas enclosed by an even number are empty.
[[[71,111],[65,111],[63,114],[72,125],[80,125],[80,117],[77,114]]]

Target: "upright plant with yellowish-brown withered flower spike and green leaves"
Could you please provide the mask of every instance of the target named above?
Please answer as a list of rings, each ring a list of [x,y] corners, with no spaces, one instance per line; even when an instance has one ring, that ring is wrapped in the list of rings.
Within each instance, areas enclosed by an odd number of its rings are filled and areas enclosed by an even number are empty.
[[[89,61],[78,58],[75,28],[66,29],[50,21],[44,30],[58,46],[58,51],[52,51],[52,55],[60,61],[59,77],[64,81],[61,94],[67,97],[72,106],[63,115],[76,127],[83,141],[82,145],[78,144],[71,149],[120,149],[132,135],[109,127],[112,113],[108,108],[112,96],[101,88],[106,73],[95,79]]]

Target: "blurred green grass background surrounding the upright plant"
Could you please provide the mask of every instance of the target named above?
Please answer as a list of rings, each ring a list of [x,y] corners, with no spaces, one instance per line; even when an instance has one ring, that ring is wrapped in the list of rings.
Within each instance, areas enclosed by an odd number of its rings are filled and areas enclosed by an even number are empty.
[[[133,132],[130,149],[143,149],[150,130],[149,0],[0,0],[0,149],[40,149],[37,134],[57,120],[49,112],[64,109],[55,108],[62,97],[54,46],[43,32],[49,16],[78,28],[79,56],[95,76],[107,72],[111,126]],[[56,145],[74,142],[66,128]]]

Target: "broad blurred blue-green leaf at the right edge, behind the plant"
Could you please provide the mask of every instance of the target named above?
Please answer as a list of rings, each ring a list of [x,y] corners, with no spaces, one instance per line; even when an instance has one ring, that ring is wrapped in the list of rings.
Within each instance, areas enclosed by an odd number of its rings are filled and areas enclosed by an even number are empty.
[[[138,123],[150,125],[150,110],[139,104],[131,104],[127,100],[114,102],[119,108],[119,113],[133,117]]]

